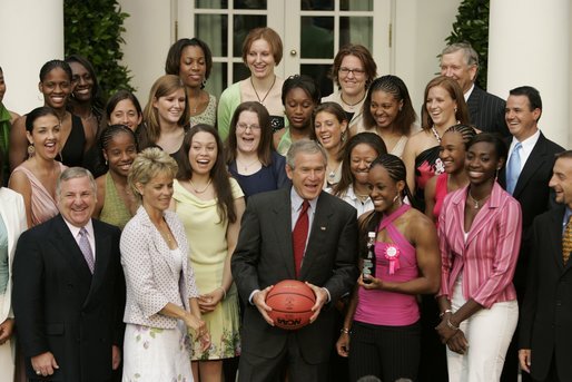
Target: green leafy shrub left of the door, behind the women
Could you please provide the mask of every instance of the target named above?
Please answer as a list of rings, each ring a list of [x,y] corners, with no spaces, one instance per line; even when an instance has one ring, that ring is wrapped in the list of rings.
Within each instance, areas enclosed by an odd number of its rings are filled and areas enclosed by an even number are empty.
[[[105,99],[119,89],[132,91],[129,69],[120,65],[124,20],[117,0],[65,0],[65,50],[91,61]]]

